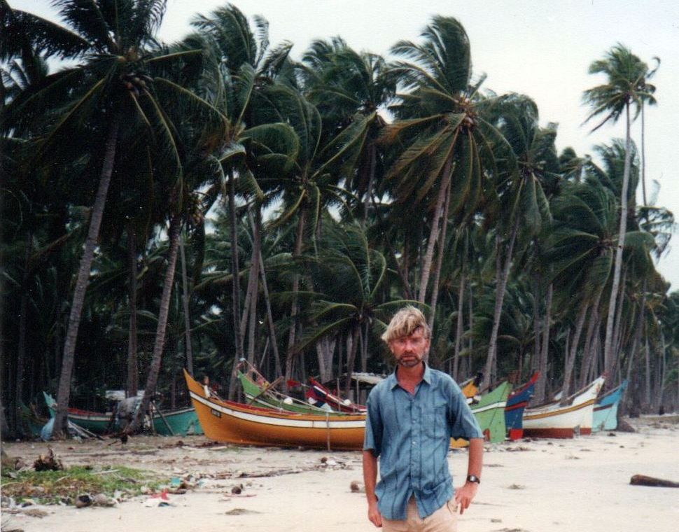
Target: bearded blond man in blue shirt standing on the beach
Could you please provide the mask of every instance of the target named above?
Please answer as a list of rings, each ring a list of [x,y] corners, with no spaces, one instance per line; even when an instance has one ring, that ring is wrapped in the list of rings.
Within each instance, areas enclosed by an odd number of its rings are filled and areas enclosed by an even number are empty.
[[[382,339],[396,370],[367,399],[363,480],[368,519],[384,532],[454,532],[456,506],[463,513],[480,482],[479,424],[455,381],[424,361],[430,330],[421,311],[398,311]],[[470,442],[467,481],[454,500],[447,462],[450,437]]]

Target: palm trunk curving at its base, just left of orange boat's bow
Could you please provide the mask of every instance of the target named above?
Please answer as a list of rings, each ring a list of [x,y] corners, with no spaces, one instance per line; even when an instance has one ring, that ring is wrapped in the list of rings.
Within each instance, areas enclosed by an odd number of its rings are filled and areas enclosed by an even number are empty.
[[[134,414],[132,423],[125,428],[125,433],[132,433],[141,427],[144,414],[148,411],[148,405],[153,398],[155,388],[158,385],[158,375],[160,374],[160,363],[162,361],[162,351],[165,348],[165,333],[167,332],[167,316],[169,315],[170,297],[172,296],[172,285],[174,284],[174,270],[177,264],[177,251],[179,251],[179,231],[181,230],[181,218],[179,214],[172,216],[170,221],[168,238],[169,250],[167,253],[167,269],[165,270],[165,281],[162,285],[162,295],[160,296],[160,309],[158,310],[158,325],[155,329],[155,342],[153,344],[153,358],[151,366],[148,368],[146,377],[146,388],[141,405]]]

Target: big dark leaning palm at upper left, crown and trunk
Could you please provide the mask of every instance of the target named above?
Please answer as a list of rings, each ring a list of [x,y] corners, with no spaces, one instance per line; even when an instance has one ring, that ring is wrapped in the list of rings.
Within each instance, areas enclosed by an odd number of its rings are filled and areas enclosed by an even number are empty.
[[[51,125],[41,141],[38,160],[44,162],[48,153],[67,160],[78,158],[81,153],[64,153],[60,145],[69,143],[61,141],[84,139],[90,143],[85,151],[90,165],[101,169],[64,342],[55,435],[62,434],[65,428],[80,315],[119,145],[152,143],[152,153],[167,172],[179,174],[179,154],[172,124],[163,111],[163,99],[172,94],[194,107],[204,104],[162,76],[165,67],[178,62],[188,64],[202,55],[200,50],[170,52],[155,41],[165,3],[135,0],[111,9],[104,0],[57,0],[54,5],[64,20],[63,27],[29,13],[20,14],[25,31],[44,38],[61,57],[81,62],[22,92],[8,107],[4,128],[21,131],[25,125],[39,123],[45,117]],[[154,73],[158,76],[149,76]],[[105,139],[103,146],[97,146],[99,138]]]

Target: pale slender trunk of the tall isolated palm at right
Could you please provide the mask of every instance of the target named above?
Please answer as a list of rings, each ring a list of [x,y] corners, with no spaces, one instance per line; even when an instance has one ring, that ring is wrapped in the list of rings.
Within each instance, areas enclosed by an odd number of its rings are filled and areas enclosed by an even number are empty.
[[[613,353],[613,321],[615,319],[615,305],[620,286],[620,272],[622,270],[622,250],[625,243],[625,233],[627,229],[627,189],[629,188],[629,173],[631,166],[631,137],[630,137],[630,117],[629,102],[625,103],[626,135],[625,135],[625,162],[622,174],[622,193],[620,194],[620,225],[618,230],[618,242],[615,250],[615,267],[613,269],[613,282],[610,290],[610,302],[608,304],[608,316],[606,319],[606,336],[603,344],[603,367],[607,375],[612,374],[615,367],[615,357]],[[612,379],[607,379],[605,388],[612,387]]]

